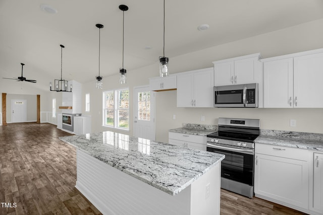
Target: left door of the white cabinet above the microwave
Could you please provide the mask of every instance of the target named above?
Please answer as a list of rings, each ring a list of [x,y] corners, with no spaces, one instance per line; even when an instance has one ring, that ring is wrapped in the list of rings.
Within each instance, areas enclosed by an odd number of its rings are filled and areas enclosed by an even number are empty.
[[[214,64],[214,86],[234,84],[234,61]]]

